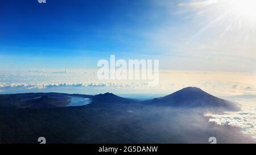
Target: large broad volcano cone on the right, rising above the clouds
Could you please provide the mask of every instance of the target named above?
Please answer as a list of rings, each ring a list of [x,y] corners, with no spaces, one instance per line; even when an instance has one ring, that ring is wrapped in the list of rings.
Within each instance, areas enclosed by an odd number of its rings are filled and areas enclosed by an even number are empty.
[[[143,103],[174,107],[222,107],[238,110],[233,103],[214,97],[197,87],[186,87],[161,98],[146,100]]]

